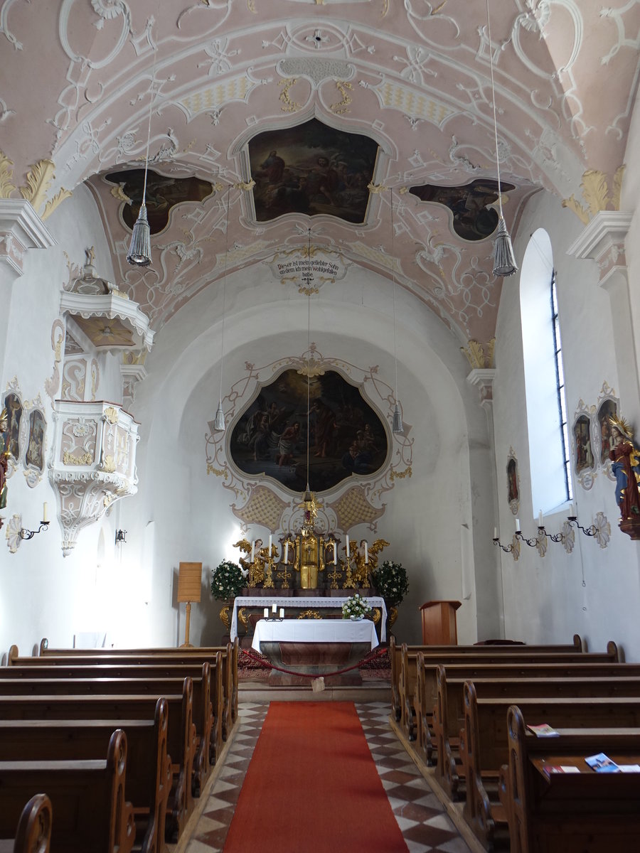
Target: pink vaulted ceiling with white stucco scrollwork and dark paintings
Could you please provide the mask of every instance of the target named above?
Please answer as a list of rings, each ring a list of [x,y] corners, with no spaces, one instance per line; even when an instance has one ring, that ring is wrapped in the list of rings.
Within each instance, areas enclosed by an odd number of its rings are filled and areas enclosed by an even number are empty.
[[[0,0],[0,197],[25,190],[48,216],[86,182],[116,287],[156,332],[223,275],[228,216],[229,273],[305,249],[310,228],[323,257],[389,278],[393,249],[399,285],[486,342],[502,287],[490,56],[513,236],[540,190],[583,222],[618,204],[640,45],[629,0],[490,9],[491,42],[480,0]],[[139,270],[123,210],[150,102]]]

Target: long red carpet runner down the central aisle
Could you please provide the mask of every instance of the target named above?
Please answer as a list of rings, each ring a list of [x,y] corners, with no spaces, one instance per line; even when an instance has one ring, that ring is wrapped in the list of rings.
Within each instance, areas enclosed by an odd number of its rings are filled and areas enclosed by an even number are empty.
[[[271,702],[224,853],[407,853],[351,702]]]

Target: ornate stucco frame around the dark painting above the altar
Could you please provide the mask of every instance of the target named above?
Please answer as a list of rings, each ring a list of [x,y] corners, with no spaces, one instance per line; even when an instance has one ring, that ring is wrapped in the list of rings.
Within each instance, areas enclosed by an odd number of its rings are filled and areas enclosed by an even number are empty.
[[[210,428],[210,432],[205,436],[207,473],[218,477],[224,489],[233,492],[235,502],[231,504],[232,511],[246,524],[249,523],[249,516],[245,509],[252,501],[255,490],[257,488],[261,490],[262,502],[264,502],[262,490],[271,490],[278,501],[286,503],[280,518],[282,530],[293,530],[294,525],[300,521],[298,519],[301,513],[300,495],[292,496],[289,490],[264,477],[248,477],[241,473],[230,460],[229,453],[233,424],[241,411],[246,408],[247,402],[256,396],[259,386],[268,384],[287,368],[296,370],[302,378],[307,374],[311,377],[323,375],[327,371],[342,374],[350,383],[361,389],[371,408],[387,425],[392,421],[394,397],[393,388],[381,379],[377,366],[359,368],[341,359],[324,357],[313,343],[309,351],[301,356],[283,357],[261,367],[246,363],[246,374],[236,380],[222,401],[225,421],[231,426],[226,432],[215,432]],[[390,430],[388,431],[387,440],[390,450],[380,472],[370,477],[366,474],[356,475],[358,484],[356,490],[352,491],[352,500],[347,497],[346,501],[340,502],[340,498],[353,489],[352,477],[343,479],[340,484],[323,492],[324,508],[318,524],[324,525],[325,531],[338,529],[338,515],[340,519],[348,519],[352,525],[367,524],[372,531],[376,531],[377,519],[385,512],[386,505],[383,501],[385,494],[393,489],[397,479],[410,476],[414,439],[410,437],[411,427],[406,421],[404,421],[404,427],[402,435],[393,435]],[[352,507],[351,510],[349,506]],[[271,512],[269,516],[271,518]],[[252,523],[259,522],[257,519],[252,519]]]

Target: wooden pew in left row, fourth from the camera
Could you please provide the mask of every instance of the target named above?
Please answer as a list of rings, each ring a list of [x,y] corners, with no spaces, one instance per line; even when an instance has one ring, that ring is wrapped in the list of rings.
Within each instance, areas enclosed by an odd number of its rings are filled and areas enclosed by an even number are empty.
[[[194,809],[191,780],[195,758],[193,682],[185,678],[183,692],[164,697],[168,709],[166,748],[172,757],[173,784],[166,815],[167,840],[179,838]],[[5,720],[148,720],[156,699],[145,695],[0,695],[0,719]]]

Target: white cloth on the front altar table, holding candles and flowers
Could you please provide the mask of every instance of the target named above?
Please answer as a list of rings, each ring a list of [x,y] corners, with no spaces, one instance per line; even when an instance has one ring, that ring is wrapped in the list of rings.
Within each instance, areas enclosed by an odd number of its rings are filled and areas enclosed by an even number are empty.
[[[378,635],[370,619],[260,619],[251,647],[260,652],[261,642],[368,642],[373,649],[378,645]]]

